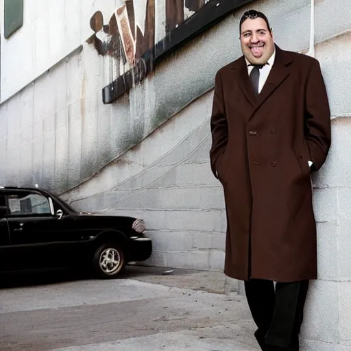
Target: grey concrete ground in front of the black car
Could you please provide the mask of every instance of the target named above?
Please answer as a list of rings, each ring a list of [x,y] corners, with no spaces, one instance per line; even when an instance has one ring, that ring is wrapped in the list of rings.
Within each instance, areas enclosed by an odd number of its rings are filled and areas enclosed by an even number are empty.
[[[222,273],[166,270],[1,278],[0,350],[259,350],[245,299],[224,293]]]

